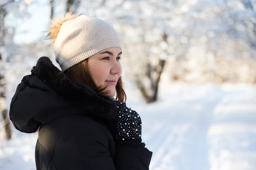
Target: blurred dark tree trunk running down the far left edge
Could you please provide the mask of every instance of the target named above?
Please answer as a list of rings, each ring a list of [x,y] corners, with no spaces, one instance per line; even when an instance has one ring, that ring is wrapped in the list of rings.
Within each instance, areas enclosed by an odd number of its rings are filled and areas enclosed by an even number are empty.
[[[6,35],[6,29],[4,26],[4,22],[6,20],[7,11],[4,8],[9,3],[13,3],[14,0],[6,1],[6,3],[0,4],[0,48],[5,45],[5,35]],[[11,139],[12,137],[12,131],[8,116],[8,111],[5,105],[6,101],[6,88],[5,88],[5,77],[4,77],[4,59],[3,55],[0,53],[0,112],[2,113],[3,121],[3,127],[6,131],[6,139]]]

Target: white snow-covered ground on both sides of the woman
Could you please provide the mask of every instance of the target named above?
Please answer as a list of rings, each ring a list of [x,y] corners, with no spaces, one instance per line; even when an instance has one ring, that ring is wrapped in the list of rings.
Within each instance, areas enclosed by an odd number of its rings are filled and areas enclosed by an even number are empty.
[[[153,151],[151,170],[256,170],[256,86],[161,86],[150,105],[127,90]],[[0,170],[35,170],[36,139],[15,130],[0,144]]]

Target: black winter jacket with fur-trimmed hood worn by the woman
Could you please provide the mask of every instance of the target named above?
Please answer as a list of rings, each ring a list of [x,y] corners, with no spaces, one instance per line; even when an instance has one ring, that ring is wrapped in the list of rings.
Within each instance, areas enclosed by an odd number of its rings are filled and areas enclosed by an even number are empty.
[[[17,130],[38,130],[37,170],[148,170],[147,148],[116,145],[116,104],[73,82],[47,57],[23,77],[10,105]],[[139,141],[141,142],[141,141]]]

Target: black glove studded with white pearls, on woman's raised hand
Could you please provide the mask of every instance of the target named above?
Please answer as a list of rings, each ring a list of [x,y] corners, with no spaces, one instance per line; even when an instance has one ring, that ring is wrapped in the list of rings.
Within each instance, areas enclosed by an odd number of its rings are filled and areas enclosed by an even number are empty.
[[[128,108],[125,103],[116,101],[117,122],[116,141],[119,145],[145,147],[141,139],[142,122],[140,115]]]

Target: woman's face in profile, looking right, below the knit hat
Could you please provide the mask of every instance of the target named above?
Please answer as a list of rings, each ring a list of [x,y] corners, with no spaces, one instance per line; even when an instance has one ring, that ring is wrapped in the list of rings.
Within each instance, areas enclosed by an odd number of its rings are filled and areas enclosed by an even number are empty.
[[[88,67],[96,86],[108,85],[105,91],[110,91],[108,96],[116,94],[116,83],[122,74],[119,62],[122,51],[119,47],[111,47],[89,57]]]

